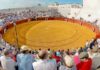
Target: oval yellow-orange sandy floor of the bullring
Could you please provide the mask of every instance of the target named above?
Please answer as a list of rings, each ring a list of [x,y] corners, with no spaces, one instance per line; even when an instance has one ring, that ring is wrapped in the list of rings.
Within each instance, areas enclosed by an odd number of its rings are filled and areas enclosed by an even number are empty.
[[[19,45],[26,44],[31,49],[74,49],[95,37],[95,33],[84,26],[59,20],[30,21],[16,28]],[[15,28],[8,29],[3,38],[15,44]]]

